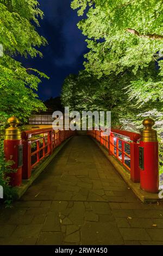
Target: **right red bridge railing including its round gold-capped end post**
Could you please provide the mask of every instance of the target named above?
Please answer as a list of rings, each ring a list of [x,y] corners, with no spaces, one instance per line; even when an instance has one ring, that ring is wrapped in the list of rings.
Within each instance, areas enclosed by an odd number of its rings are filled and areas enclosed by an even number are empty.
[[[152,126],[154,120],[143,120],[145,130],[141,134],[111,129],[109,135],[103,131],[87,131],[87,135],[101,143],[108,154],[116,157],[130,172],[133,182],[140,182],[142,190],[151,193],[159,191],[159,143]]]

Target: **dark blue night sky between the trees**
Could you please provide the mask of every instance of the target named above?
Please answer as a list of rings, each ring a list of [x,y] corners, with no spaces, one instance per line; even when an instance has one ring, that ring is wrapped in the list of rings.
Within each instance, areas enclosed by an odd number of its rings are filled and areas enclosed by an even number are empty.
[[[23,60],[26,67],[36,68],[51,77],[43,79],[39,86],[39,97],[46,100],[58,96],[62,83],[69,74],[78,74],[83,67],[83,54],[87,52],[85,36],[78,29],[81,19],[77,11],[72,10],[72,0],[38,0],[45,14],[37,29],[45,36],[48,46],[41,47],[43,58]]]

